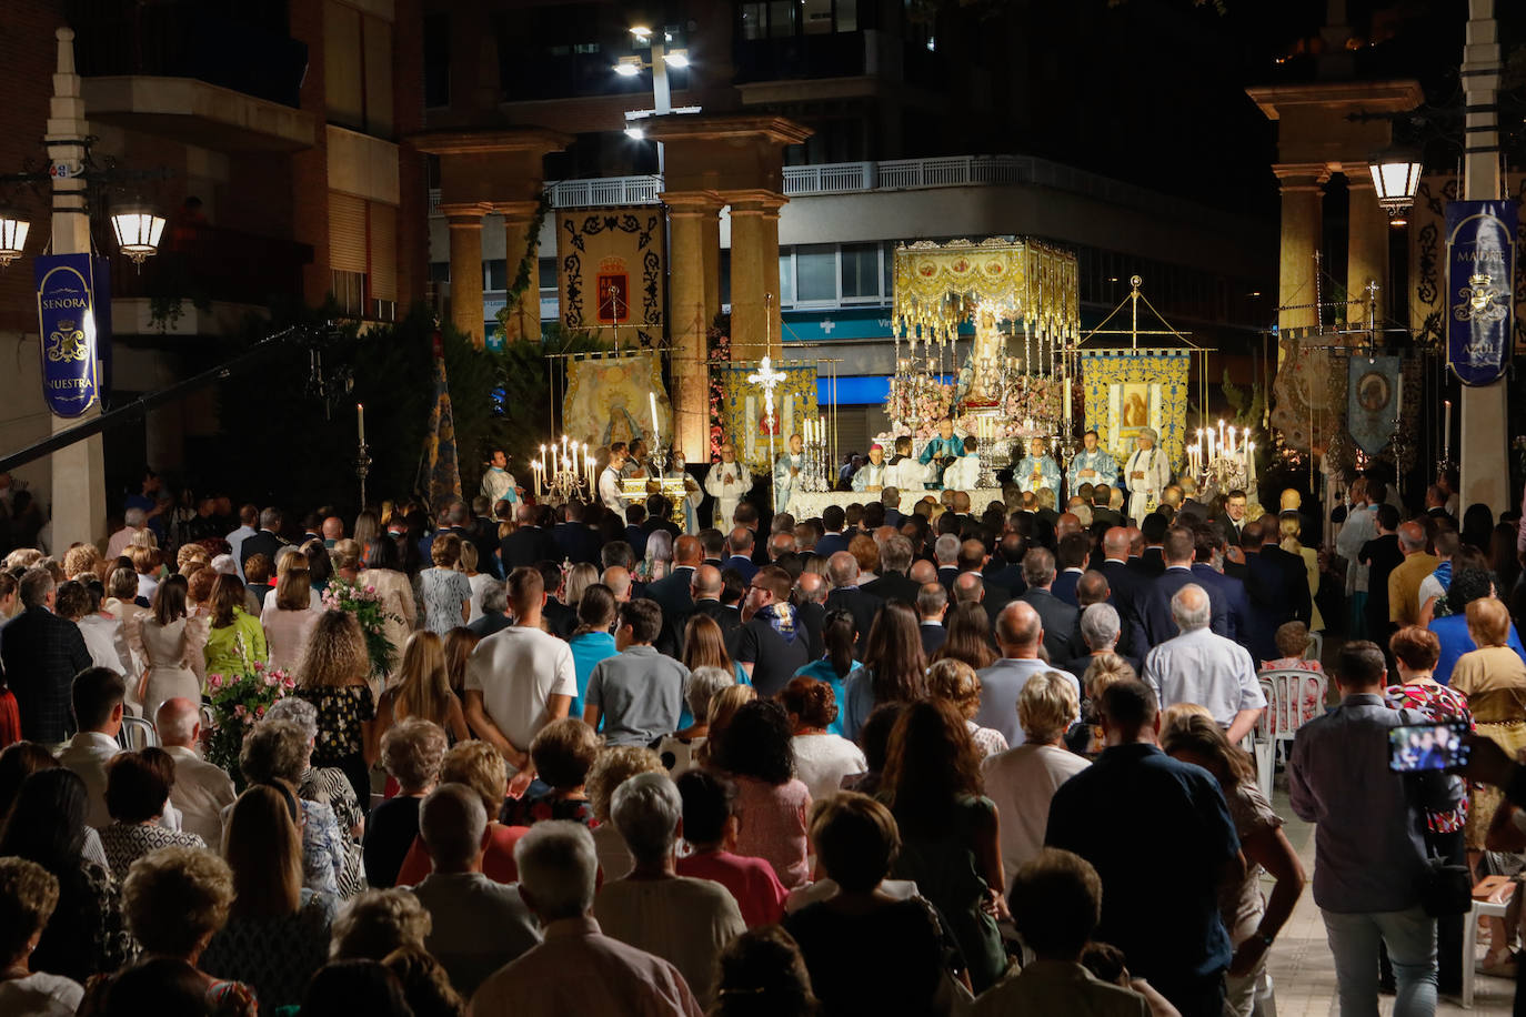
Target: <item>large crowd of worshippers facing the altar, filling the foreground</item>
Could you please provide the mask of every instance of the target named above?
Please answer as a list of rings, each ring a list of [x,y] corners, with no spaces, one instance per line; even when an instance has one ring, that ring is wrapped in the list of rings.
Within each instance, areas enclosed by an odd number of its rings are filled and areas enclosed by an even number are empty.
[[[102,547],[8,552],[0,1012],[1248,1017],[1306,878],[1259,675],[1325,662],[1276,723],[1341,1011],[1392,977],[1433,1012],[1471,962],[1428,858],[1523,865],[1517,520],[1444,488],[716,497],[690,532],[490,480],[175,521],[150,474]],[[255,666],[291,695],[224,770],[211,675]],[[1480,781],[1390,768],[1448,721]]]

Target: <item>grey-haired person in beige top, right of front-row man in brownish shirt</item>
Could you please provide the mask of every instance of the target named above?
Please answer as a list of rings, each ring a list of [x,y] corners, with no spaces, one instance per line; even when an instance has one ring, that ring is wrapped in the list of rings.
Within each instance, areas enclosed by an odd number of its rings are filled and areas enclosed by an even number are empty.
[[[742,910],[719,883],[678,875],[684,799],[665,773],[639,773],[621,784],[610,813],[636,866],[604,884],[594,916],[615,939],[671,962],[708,1002],[720,951],[746,930]]]

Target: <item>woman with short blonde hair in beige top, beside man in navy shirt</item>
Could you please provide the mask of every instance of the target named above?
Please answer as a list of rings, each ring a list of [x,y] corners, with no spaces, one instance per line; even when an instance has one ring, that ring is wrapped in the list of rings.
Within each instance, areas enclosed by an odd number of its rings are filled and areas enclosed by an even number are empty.
[[[1076,686],[1059,671],[1039,671],[1018,692],[1018,723],[1024,743],[980,768],[986,797],[1001,816],[1001,868],[1016,872],[1044,849],[1048,805],[1061,784],[1090,762],[1065,747],[1065,730],[1080,715]]]

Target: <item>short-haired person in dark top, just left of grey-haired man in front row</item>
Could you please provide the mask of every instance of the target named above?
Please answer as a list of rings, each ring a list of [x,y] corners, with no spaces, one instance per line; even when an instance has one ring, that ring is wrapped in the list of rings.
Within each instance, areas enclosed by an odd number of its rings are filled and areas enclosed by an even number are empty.
[[[418,807],[418,836],[433,871],[412,887],[433,919],[424,938],[450,985],[472,999],[487,976],[540,942],[516,884],[482,875],[487,811],[464,784],[441,784]]]

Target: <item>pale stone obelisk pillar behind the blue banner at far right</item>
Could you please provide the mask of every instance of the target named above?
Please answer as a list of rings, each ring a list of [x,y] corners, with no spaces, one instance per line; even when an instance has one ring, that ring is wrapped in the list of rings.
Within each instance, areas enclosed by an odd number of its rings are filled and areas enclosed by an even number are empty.
[[[1500,37],[1494,0],[1468,0],[1462,87],[1466,96],[1462,194],[1466,200],[1494,200],[1500,197],[1500,119],[1495,105],[1500,91]],[[1503,511],[1511,506],[1505,378],[1492,384],[1462,386],[1460,403],[1460,505],[1482,502],[1494,511]]]

